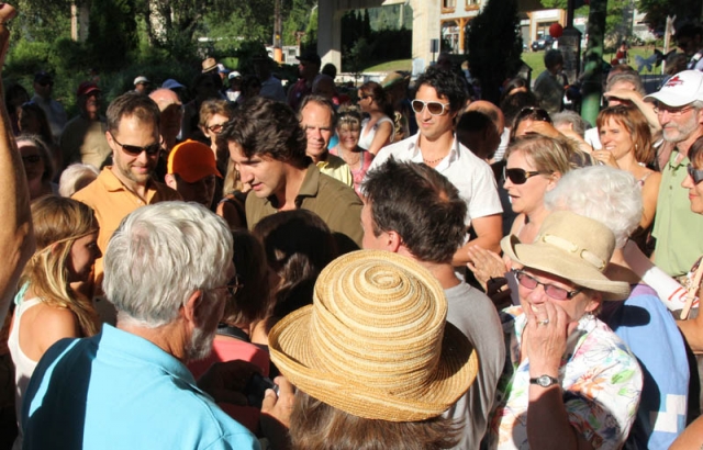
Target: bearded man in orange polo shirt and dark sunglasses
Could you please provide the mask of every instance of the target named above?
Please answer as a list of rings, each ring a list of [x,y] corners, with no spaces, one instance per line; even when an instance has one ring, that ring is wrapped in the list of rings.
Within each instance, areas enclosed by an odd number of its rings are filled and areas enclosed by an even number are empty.
[[[72,198],[96,211],[100,224],[98,247],[104,255],[110,237],[124,218],[140,206],[181,200],[178,192],[152,179],[161,149],[160,113],[154,100],[136,92],[118,97],[108,106],[105,137],[112,166]],[[102,281],[102,258],[96,260],[94,280]]]

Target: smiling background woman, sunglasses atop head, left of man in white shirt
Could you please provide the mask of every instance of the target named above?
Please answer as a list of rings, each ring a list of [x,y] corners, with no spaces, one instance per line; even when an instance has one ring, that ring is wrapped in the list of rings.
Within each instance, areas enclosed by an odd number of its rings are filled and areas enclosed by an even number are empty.
[[[359,147],[359,136],[361,134],[361,113],[356,106],[343,105],[337,111],[337,136],[339,142],[330,149],[332,155],[344,159],[352,170],[354,179],[354,190],[361,194],[360,187],[366,172],[371,167],[373,154]]]

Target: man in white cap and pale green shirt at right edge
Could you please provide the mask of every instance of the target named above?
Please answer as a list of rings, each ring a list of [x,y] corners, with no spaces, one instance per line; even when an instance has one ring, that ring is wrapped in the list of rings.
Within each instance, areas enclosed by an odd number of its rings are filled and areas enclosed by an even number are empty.
[[[691,211],[687,177],[689,148],[703,136],[703,72],[684,70],[674,75],[646,101],[655,102],[663,139],[673,147],[661,170],[657,215],[652,236],[657,238],[654,261],[671,277],[684,275],[703,254],[703,216]]]

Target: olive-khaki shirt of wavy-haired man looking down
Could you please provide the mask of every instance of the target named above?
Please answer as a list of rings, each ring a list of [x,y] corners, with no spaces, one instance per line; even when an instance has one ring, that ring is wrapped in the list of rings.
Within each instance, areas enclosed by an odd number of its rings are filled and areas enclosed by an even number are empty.
[[[249,193],[246,199],[246,223],[249,229],[264,217],[278,212],[267,198]],[[317,214],[335,234],[341,252],[361,248],[361,200],[354,189],[324,173],[314,164],[308,166],[303,183],[295,198],[295,206]]]

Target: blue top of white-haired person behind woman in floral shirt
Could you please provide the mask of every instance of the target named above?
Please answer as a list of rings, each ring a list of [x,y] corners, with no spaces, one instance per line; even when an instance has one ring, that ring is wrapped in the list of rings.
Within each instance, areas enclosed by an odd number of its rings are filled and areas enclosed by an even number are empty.
[[[625,302],[604,302],[601,318],[627,344],[643,370],[637,418],[625,449],[668,449],[685,428],[689,362],[671,314],[649,286]]]

